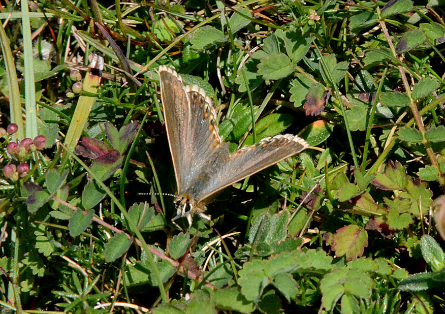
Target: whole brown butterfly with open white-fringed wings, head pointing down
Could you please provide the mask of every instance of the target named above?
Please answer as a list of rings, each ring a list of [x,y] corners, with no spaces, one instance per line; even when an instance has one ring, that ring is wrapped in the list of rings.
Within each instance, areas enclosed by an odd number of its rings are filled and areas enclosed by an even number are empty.
[[[173,69],[158,69],[167,136],[178,188],[177,213],[192,225],[192,216],[204,214],[216,192],[309,147],[302,138],[276,135],[229,152],[219,136],[213,101],[196,85],[184,86]]]

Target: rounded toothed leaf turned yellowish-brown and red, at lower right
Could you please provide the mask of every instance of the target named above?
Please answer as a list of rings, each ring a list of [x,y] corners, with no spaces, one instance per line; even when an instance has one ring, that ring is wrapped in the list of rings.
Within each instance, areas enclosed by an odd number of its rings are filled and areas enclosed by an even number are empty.
[[[335,255],[344,255],[350,261],[363,255],[365,247],[368,246],[368,233],[359,226],[349,225],[338,229],[332,242]]]

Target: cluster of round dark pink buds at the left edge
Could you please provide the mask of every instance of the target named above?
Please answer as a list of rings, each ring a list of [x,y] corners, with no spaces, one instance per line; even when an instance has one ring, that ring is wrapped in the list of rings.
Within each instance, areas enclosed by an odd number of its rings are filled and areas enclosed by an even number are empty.
[[[30,138],[24,138],[21,141],[11,142],[10,136],[16,133],[18,126],[15,123],[8,125],[6,130],[0,128],[0,137],[6,139],[5,153],[8,155],[10,161],[17,161],[18,165],[11,163],[3,167],[3,176],[6,179],[17,181],[19,178],[24,178],[29,172],[29,165],[26,160],[29,159],[29,152],[36,150],[42,150],[46,145],[46,137],[43,135],[36,136],[34,140]],[[0,146],[3,146],[0,143]]]

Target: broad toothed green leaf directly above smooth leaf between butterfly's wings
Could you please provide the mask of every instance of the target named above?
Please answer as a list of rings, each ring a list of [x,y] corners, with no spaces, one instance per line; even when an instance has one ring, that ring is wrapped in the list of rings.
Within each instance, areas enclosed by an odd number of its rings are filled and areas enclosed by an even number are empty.
[[[260,60],[257,66],[258,74],[265,80],[278,80],[292,74],[295,66],[291,59],[284,53],[271,53]]]

